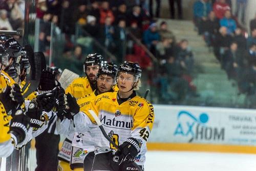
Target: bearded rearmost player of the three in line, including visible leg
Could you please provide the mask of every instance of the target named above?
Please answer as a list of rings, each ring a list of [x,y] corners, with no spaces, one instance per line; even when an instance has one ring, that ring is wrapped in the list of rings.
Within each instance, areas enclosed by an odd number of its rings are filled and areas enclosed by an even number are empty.
[[[103,57],[98,53],[89,54],[83,64],[83,72],[86,73],[86,77],[79,77],[73,80],[73,82],[65,90],[66,94],[70,93],[75,98],[81,98],[85,95],[91,94],[96,89],[96,74],[99,68],[103,65]],[[59,169],[69,171],[70,170],[70,155],[71,145],[74,134],[70,134],[63,141],[60,149]],[[65,153],[64,153],[65,152]]]

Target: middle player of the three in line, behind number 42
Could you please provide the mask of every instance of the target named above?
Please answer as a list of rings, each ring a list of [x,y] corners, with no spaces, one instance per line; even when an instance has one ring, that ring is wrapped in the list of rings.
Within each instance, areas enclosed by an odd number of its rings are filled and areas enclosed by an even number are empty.
[[[106,63],[97,73],[97,88],[93,93],[77,100],[80,111],[85,110],[93,99],[105,92],[114,92],[117,67],[113,63]],[[97,125],[95,125],[97,127]],[[72,155],[70,167],[72,170],[91,170],[94,159],[94,138],[90,132],[76,133],[72,140]],[[81,154],[81,152],[86,152]],[[79,155],[80,154],[80,155]]]

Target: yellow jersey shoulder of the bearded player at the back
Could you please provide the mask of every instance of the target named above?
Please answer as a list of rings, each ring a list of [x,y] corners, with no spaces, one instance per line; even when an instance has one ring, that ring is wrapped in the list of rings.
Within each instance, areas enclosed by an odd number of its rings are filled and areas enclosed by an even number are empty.
[[[73,80],[65,90],[65,93],[70,93],[75,98],[81,98],[85,95],[91,94],[93,89],[87,77],[79,77]]]

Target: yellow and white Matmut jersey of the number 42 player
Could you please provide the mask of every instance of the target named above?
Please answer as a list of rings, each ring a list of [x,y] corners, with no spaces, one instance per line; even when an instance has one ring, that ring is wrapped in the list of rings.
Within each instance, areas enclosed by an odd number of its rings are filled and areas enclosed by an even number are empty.
[[[82,110],[82,112],[94,123],[95,120],[88,110],[91,109],[98,114],[106,134],[111,136],[117,145],[122,144],[129,137],[136,138],[141,143],[141,152],[136,162],[142,165],[145,160],[146,141],[150,136],[154,122],[153,105],[139,96],[119,104],[117,93],[108,92],[96,96],[90,102],[89,107]],[[116,150],[98,129],[94,130],[95,147],[103,149],[101,153],[105,153],[106,149]],[[98,152],[100,153],[100,151]]]

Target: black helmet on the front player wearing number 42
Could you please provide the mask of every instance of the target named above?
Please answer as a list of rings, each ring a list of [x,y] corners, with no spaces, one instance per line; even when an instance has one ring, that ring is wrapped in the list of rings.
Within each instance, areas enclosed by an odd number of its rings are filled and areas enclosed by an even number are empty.
[[[139,63],[136,62],[130,62],[130,61],[124,61],[119,67],[118,67],[118,73],[124,72],[129,73],[135,76],[135,80],[137,81],[141,77],[141,68],[139,66]]]

